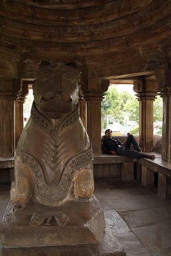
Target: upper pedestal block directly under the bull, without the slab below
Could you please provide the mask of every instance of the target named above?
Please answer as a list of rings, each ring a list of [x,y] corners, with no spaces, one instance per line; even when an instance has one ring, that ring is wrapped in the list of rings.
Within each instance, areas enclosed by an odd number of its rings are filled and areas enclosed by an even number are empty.
[[[67,201],[50,207],[28,203],[13,212],[10,202],[1,222],[4,246],[63,246],[100,243],[105,220],[98,200]]]

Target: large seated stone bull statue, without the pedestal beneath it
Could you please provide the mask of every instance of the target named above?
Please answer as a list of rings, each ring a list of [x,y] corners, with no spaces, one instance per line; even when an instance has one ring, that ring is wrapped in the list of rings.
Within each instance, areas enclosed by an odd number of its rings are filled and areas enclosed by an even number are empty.
[[[93,195],[93,155],[79,117],[78,81],[70,65],[41,63],[31,117],[17,147],[13,204],[56,206]]]

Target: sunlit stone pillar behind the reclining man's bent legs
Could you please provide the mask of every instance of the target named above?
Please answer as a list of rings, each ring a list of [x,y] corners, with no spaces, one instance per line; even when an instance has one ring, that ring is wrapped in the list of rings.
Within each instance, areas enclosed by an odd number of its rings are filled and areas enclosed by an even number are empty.
[[[146,79],[135,80],[133,85],[140,104],[140,146],[143,152],[151,152],[153,151],[153,101],[156,98],[158,86],[156,81]]]

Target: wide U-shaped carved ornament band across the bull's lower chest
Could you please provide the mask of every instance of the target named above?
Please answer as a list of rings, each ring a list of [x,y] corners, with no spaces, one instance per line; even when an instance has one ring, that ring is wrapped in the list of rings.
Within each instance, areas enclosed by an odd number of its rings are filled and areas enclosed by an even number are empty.
[[[30,170],[34,170],[34,173],[32,174],[34,179],[36,179],[36,195],[38,195],[39,198],[47,200],[47,202],[51,200],[52,202],[56,201],[58,203],[64,200],[64,198],[66,198],[68,195],[75,171],[86,168],[87,164],[91,163],[93,160],[93,153],[92,147],[90,147],[85,152],[82,152],[81,154],[71,158],[70,161],[66,163],[61,180],[56,186],[47,184],[43,175],[43,170],[33,156],[23,152],[22,150],[19,150],[17,152],[16,159],[19,159],[20,163],[28,166]]]

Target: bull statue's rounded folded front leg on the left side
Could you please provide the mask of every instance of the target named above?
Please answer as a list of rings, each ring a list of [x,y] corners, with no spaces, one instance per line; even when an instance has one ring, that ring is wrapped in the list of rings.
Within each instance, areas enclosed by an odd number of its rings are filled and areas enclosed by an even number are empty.
[[[11,201],[15,205],[25,205],[33,193],[31,171],[27,166],[15,161],[15,181],[11,186]]]

